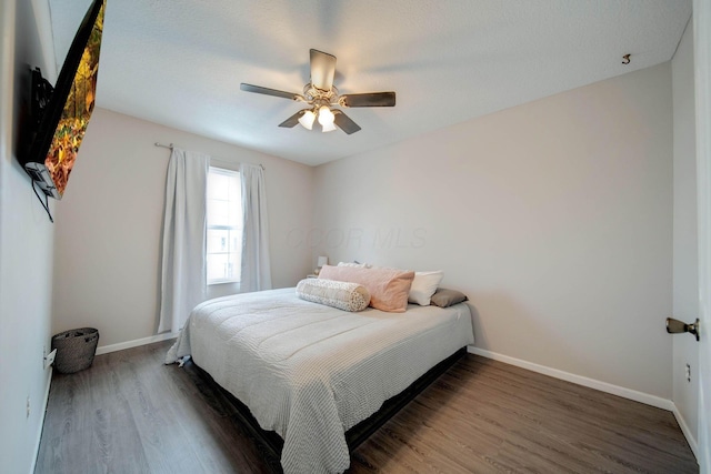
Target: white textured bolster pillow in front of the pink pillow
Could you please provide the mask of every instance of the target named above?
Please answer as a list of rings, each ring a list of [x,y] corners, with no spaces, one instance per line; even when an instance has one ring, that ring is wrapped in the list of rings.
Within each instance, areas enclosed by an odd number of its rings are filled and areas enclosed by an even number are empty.
[[[370,303],[370,293],[365,286],[333,280],[301,280],[297,285],[297,295],[302,300],[343,311],[363,311]]]

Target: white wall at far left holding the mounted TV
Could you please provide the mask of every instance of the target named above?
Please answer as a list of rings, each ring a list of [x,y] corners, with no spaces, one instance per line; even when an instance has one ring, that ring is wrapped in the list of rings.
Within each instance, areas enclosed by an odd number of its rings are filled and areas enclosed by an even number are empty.
[[[51,343],[53,228],[16,158],[30,65],[56,79],[41,38],[48,14],[46,1],[0,2],[0,471],[10,474],[34,465],[51,375],[42,351]]]

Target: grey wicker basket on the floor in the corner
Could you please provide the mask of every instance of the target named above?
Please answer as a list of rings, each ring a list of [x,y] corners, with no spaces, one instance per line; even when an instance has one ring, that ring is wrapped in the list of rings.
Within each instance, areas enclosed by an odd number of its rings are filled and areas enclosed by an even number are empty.
[[[93,327],[81,327],[54,334],[52,349],[57,349],[54,369],[63,374],[89,369],[99,344],[99,331]]]

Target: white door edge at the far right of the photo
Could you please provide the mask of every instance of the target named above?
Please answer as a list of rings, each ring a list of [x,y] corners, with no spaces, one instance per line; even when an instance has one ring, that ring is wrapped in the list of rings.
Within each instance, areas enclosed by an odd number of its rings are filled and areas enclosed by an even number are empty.
[[[699,195],[699,465],[711,474],[711,1],[693,1]]]

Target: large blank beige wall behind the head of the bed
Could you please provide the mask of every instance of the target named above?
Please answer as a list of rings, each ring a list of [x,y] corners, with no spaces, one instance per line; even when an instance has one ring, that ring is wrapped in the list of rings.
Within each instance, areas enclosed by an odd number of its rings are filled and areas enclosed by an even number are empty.
[[[444,270],[475,345],[672,396],[669,63],[321,165],[312,255]]]

